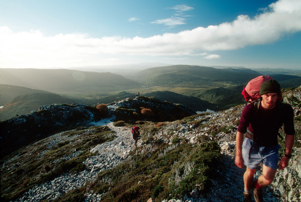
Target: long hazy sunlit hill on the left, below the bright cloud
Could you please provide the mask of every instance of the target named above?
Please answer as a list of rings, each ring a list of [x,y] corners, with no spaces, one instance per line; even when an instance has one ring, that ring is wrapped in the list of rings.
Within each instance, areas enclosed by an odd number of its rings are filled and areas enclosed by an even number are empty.
[[[50,92],[107,92],[140,87],[136,81],[110,72],[67,69],[4,68],[1,70],[1,83]]]

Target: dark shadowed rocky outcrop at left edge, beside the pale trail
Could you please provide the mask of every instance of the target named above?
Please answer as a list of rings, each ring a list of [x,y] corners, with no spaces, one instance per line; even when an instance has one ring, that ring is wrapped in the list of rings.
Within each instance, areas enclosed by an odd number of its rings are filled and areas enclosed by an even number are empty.
[[[55,132],[85,126],[96,118],[100,119],[98,112],[91,106],[52,104],[1,122],[1,156]]]

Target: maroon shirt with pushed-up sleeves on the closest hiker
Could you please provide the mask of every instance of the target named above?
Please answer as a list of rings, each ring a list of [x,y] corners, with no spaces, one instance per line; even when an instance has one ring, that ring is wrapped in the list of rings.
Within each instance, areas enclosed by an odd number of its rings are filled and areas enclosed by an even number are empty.
[[[278,131],[282,123],[285,134],[294,135],[293,109],[290,105],[282,103],[283,109],[281,110],[280,104],[277,102],[276,106],[270,110],[265,110],[260,105],[255,116],[254,103],[248,104],[242,112],[237,131],[246,133],[249,127],[249,131],[254,134],[254,141],[264,146],[278,144]]]

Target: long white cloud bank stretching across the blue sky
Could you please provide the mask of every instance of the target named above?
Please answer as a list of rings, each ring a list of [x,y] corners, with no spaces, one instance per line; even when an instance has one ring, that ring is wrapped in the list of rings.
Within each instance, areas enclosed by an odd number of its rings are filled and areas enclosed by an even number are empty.
[[[191,8],[183,6],[179,7],[178,11],[182,11],[181,9]],[[181,17],[178,18],[178,23],[181,23]],[[168,23],[168,19],[165,21]],[[48,37],[43,36],[39,30],[14,33],[8,27],[0,27],[0,56],[2,67],[3,64],[13,66],[14,63],[36,60],[49,64],[54,60],[82,61],[92,57],[91,55],[100,54],[189,56],[205,51],[235,50],[267,44],[287,33],[296,33],[300,30],[301,1],[279,0],[254,18],[240,15],[232,22],[148,38],[139,36],[91,38],[87,34],[57,34]],[[205,54],[205,58],[220,56]]]

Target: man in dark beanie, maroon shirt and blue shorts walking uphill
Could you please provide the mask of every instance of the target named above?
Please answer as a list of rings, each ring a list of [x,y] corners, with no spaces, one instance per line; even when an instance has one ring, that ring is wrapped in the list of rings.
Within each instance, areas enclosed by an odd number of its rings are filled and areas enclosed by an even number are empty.
[[[281,96],[280,84],[272,79],[265,81],[260,85],[259,95],[259,101],[244,107],[236,134],[235,164],[239,168],[247,166],[243,192],[246,202],[252,201],[251,189],[255,201],[263,201],[262,187],[272,183],[277,167],[282,170],[288,165],[295,134],[292,107],[277,100]],[[255,108],[258,109],[256,112]],[[286,134],[285,152],[278,163],[281,146],[277,137],[280,136],[278,130],[282,124]],[[253,181],[256,167],[261,161],[262,175]]]

